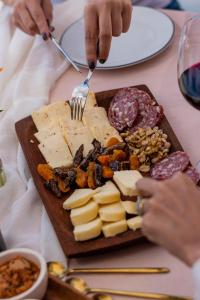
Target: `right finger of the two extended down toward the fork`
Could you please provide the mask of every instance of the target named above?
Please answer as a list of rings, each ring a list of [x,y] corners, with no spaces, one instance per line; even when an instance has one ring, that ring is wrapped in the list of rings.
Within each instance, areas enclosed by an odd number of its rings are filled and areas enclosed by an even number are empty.
[[[112,41],[112,19],[109,10],[103,10],[99,16],[99,61],[105,63]]]

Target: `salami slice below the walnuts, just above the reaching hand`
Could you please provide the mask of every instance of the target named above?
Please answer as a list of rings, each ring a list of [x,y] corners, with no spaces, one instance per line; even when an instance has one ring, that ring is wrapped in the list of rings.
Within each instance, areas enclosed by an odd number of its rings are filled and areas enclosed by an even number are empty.
[[[151,169],[151,177],[164,180],[172,177],[176,172],[184,171],[189,165],[189,157],[185,152],[177,151],[158,162]]]

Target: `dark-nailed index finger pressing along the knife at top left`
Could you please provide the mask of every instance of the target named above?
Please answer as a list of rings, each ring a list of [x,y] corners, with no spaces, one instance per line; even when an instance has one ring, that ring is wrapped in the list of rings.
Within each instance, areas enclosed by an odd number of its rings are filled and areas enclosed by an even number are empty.
[[[40,1],[27,1],[27,9],[36,23],[40,34],[43,35],[44,40],[49,37],[49,27],[46,21],[46,16],[40,5]]]

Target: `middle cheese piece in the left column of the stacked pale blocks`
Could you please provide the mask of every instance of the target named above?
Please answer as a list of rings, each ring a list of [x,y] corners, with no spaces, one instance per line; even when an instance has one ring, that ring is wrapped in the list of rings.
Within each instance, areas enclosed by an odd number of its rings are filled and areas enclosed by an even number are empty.
[[[70,218],[74,226],[88,223],[94,220],[98,215],[98,205],[90,201],[84,206],[71,210]]]

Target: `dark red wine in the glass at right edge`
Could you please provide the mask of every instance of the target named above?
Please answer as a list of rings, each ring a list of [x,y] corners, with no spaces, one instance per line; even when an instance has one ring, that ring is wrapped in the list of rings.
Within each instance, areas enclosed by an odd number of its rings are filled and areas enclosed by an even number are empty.
[[[185,70],[178,81],[185,99],[200,110],[200,62]]]

